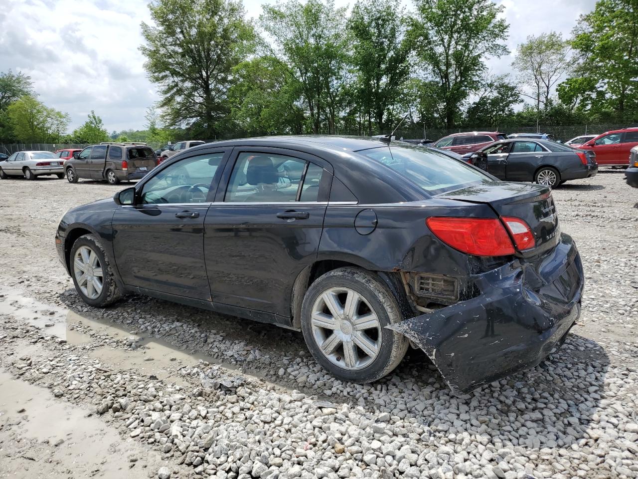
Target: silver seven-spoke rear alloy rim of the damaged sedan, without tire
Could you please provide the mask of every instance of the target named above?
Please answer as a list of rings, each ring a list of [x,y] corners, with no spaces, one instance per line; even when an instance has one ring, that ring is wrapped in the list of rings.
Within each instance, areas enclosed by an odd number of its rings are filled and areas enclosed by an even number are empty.
[[[381,351],[381,323],[357,291],[333,287],[313,305],[310,324],[323,356],[343,369],[363,369]]]

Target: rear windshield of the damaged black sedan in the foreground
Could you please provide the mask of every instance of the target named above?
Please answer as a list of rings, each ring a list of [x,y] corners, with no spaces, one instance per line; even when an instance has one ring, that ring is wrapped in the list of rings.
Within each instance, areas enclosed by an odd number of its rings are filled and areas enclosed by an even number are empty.
[[[461,160],[420,146],[390,146],[358,153],[401,173],[406,180],[416,183],[431,195],[494,182],[494,179]]]

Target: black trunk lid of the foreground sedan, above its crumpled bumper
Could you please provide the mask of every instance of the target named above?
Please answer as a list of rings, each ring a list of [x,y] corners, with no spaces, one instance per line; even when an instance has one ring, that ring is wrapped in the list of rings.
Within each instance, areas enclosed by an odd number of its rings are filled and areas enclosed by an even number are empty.
[[[551,188],[542,185],[495,181],[467,186],[437,197],[489,204],[499,217],[524,220],[534,234],[536,247],[523,252],[524,256],[537,255],[558,244],[560,227]]]

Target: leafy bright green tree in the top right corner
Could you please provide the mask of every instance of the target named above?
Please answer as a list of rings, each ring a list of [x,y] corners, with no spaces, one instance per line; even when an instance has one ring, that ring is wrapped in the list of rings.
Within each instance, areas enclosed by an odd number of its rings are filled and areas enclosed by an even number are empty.
[[[572,48],[579,64],[558,86],[561,101],[593,112],[616,112],[618,120],[638,118],[638,4],[599,0],[581,15]]]

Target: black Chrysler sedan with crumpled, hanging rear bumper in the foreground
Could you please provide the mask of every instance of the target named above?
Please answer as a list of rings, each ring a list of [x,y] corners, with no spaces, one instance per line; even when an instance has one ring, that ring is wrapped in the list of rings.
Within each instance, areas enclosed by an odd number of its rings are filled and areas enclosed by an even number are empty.
[[[372,138],[190,148],[68,211],[56,246],[94,307],[141,293],[292,328],[345,381],[412,341],[455,392],[538,365],[583,287],[550,188]]]

